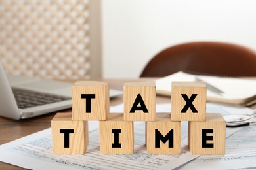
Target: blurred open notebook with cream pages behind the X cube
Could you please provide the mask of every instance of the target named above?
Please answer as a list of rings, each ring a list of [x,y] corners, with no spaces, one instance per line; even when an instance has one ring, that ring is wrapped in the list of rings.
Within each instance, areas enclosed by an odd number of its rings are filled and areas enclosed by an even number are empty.
[[[156,93],[160,95],[171,95],[171,82],[197,81],[198,79],[223,91],[223,93],[216,93],[207,88],[207,101],[234,105],[250,105],[256,100],[256,80],[192,75],[182,71],[156,80]]]

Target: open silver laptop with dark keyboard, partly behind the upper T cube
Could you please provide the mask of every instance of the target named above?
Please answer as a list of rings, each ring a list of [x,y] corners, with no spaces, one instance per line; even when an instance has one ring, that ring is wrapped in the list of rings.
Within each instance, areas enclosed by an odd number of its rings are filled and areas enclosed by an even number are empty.
[[[0,116],[32,118],[72,105],[72,83],[5,75],[0,61]],[[110,97],[123,92],[110,90]]]

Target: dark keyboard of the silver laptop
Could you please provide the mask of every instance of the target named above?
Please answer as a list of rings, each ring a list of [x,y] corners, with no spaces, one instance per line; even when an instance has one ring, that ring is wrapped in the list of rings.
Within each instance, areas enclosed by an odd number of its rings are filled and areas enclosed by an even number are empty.
[[[30,90],[22,90],[18,88],[12,88],[12,92],[16,99],[16,103],[18,104],[18,108],[20,109],[36,107],[39,105],[45,105],[71,99],[70,97],[53,95],[49,93],[34,92]]]

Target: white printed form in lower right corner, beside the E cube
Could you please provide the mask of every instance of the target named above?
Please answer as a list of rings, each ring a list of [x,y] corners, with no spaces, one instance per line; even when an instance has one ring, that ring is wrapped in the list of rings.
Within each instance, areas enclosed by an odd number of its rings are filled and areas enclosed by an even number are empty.
[[[200,156],[179,169],[256,169],[256,125],[226,139],[225,156]]]

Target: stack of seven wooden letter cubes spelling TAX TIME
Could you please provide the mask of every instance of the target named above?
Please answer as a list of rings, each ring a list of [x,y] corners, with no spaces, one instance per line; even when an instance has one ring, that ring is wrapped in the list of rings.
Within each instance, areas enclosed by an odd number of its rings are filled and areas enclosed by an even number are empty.
[[[192,154],[224,154],[225,122],[221,114],[206,114],[203,82],[173,82],[171,113],[156,114],[155,82],[123,86],[123,113],[109,113],[105,82],[79,81],[72,86],[72,113],[57,113],[52,120],[53,154],[85,154],[88,121],[100,124],[101,154],[133,154],[133,122],[146,122],[148,154],[181,152],[181,121],[188,121]]]

